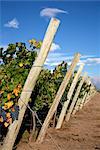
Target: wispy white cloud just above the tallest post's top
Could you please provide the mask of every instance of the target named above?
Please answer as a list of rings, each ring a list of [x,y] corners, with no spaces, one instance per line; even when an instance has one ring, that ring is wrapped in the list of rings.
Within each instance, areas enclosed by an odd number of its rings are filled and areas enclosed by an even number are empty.
[[[64,11],[62,9],[58,9],[58,8],[44,8],[44,9],[42,9],[40,11],[40,16],[41,17],[51,18],[51,17],[55,17],[57,14],[60,14],[60,13],[68,14],[67,11]]]

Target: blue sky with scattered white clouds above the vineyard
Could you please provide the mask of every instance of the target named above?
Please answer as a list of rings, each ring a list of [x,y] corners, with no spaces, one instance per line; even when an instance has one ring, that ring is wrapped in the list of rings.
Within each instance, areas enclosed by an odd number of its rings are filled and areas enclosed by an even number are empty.
[[[79,64],[100,84],[100,2],[1,1],[0,46],[43,39],[50,17],[61,20],[46,65],[71,62],[76,52]],[[49,9],[48,9],[49,8]]]

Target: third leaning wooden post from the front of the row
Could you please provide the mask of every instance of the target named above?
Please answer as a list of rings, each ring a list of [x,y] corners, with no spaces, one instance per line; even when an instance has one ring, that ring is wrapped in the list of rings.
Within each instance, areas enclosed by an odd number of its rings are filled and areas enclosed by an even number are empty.
[[[64,105],[62,107],[62,110],[61,110],[61,113],[60,113],[60,116],[59,116],[59,119],[58,119],[58,122],[57,122],[57,125],[56,125],[56,129],[60,129],[61,126],[62,126],[62,123],[63,123],[64,117],[66,115],[66,111],[67,111],[68,105],[70,103],[70,100],[71,100],[73,91],[75,89],[75,86],[76,86],[76,84],[78,82],[78,78],[79,78],[79,76],[80,76],[80,74],[82,72],[83,66],[84,66],[83,64],[80,65],[80,67],[78,69],[78,72],[77,72],[77,74],[75,75],[75,77],[73,79],[73,82],[71,84],[71,87],[70,87],[68,95],[67,95],[67,100],[64,102]]]

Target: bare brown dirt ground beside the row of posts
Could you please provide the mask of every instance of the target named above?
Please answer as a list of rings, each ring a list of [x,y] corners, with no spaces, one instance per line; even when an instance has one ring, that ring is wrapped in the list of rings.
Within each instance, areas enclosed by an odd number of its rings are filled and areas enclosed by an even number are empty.
[[[100,94],[65,122],[62,129],[49,129],[48,133],[42,144],[20,142],[17,150],[100,150]]]

